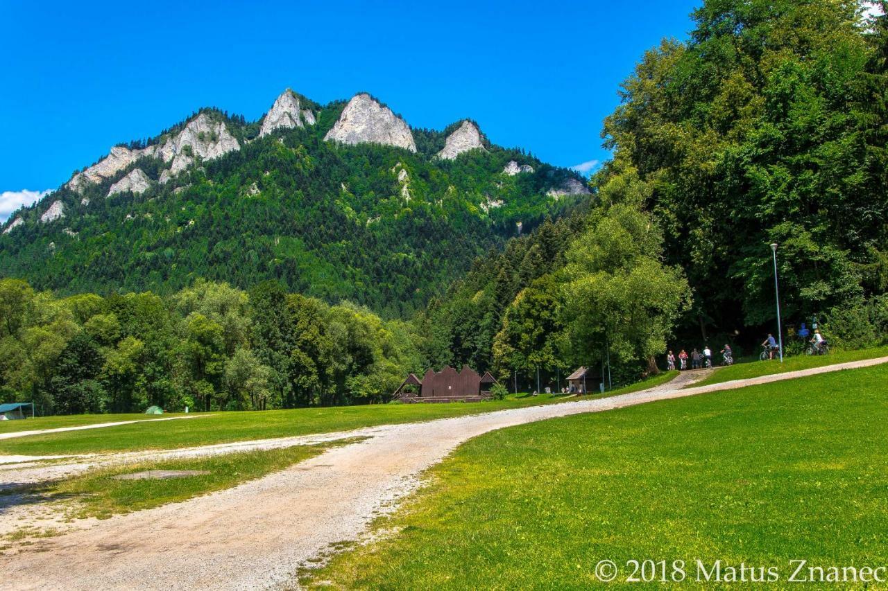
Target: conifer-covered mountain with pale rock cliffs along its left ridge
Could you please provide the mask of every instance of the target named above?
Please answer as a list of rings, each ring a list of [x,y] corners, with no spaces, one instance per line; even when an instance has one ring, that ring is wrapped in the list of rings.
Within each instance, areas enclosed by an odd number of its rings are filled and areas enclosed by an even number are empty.
[[[266,116],[281,118],[277,128],[205,109],[115,148],[12,215],[0,273],[61,294],[163,295],[196,278],[245,289],[274,279],[291,292],[403,317],[475,256],[582,197],[547,194],[575,175],[486,138],[438,157],[458,122],[414,130],[416,152],[350,145],[325,140],[345,103],[321,107],[289,91],[281,98],[297,101],[289,107],[296,123],[278,103]],[[369,127],[400,122],[389,119]],[[507,174],[510,161],[533,171]]]

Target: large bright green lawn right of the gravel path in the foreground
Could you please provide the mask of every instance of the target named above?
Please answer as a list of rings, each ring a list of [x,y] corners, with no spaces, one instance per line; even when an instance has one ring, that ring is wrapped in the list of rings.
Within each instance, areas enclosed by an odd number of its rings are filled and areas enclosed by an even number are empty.
[[[624,580],[633,559],[694,579],[699,558],[773,565],[786,587],[792,559],[884,566],[885,382],[877,366],[494,431],[380,520],[393,533],[303,582],[588,588],[603,559]]]

